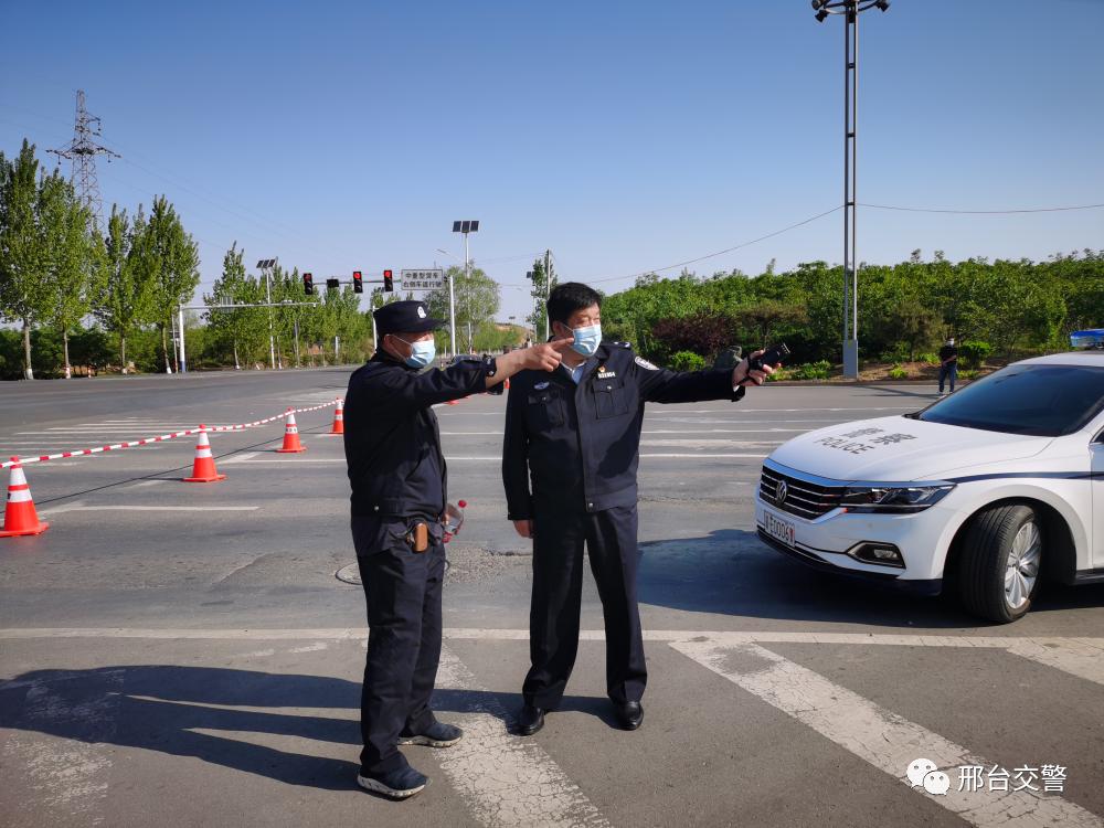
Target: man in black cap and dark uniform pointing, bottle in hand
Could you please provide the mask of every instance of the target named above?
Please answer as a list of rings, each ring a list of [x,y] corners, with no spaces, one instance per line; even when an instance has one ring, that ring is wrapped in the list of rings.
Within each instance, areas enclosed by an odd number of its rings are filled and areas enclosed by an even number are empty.
[[[440,657],[446,503],[432,406],[486,391],[521,369],[548,375],[571,341],[422,372],[433,363],[433,331],[444,322],[420,301],[392,302],[374,316],[380,350],[353,373],[344,401],[352,537],[370,627],[358,783],[400,799],[428,781],[397,745],[447,747],[463,736],[429,709]]]

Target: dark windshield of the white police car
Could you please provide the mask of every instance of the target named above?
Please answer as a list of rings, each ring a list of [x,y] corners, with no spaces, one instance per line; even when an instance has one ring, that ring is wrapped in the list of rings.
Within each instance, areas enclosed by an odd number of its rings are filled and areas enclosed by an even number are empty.
[[[927,423],[1060,437],[1104,407],[1104,367],[1009,365],[916,415]]]

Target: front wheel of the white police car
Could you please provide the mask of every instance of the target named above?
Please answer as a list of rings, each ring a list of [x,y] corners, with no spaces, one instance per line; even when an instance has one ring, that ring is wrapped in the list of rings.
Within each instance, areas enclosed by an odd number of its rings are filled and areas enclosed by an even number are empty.
[[[1039,588],[1044,535],[1029,506],[997,506],[970,521],[959,560],[958,591],[974,615],[1008,624],[1031,608]]]

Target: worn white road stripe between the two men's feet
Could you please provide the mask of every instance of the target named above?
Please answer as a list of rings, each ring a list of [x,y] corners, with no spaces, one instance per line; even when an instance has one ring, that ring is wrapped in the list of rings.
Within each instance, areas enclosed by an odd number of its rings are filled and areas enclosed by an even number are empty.
[[[509,733],[509,713],[447,647],[437,688],[477,697],[470,712],[447,716],[464,739],[438,761],[478,821],[492,828],[609,825],[540,744]]]

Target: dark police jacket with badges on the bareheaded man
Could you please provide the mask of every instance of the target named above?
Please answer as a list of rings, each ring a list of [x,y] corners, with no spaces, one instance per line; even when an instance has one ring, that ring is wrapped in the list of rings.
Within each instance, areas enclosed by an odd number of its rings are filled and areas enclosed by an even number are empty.
[[[563,365],[551,374],[516,374],[502,450],[510,520],[530,520],[534,498],[588,512],[636,503],[645,403],[743,395],[743,388],[732,388],[730,369],[668,371],[636,357],[626,342],[603,342],[577,385]]]

